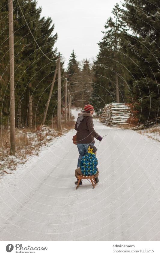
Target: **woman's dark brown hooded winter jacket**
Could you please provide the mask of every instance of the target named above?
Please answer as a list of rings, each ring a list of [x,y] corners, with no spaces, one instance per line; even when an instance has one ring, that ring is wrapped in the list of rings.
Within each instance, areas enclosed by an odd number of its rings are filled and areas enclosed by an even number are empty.
[[[91,113],[85,111],[78,114],[74,129],[77,131],[77,143],[95,143],[94,137],[99,137],[93,128]]]

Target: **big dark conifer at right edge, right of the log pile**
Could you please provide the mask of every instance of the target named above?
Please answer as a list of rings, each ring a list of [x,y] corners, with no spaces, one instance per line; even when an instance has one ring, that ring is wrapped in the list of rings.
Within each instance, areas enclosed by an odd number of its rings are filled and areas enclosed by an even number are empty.
[[[159,116],[159,1],[130,0],[123,4],[123,20],[133,31],[124,46],[130,62],[134,110],[139,122],[156,122]],[[132,17],[132,18],[131,18]]]

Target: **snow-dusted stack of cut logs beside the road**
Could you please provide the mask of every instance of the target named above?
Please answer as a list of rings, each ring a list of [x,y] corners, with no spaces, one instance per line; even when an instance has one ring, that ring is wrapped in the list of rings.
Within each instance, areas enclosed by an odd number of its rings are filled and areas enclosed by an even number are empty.
[[[101,122],[106,125],[121,125],[128,124],[130,117],[130,108],[123,103],[110,103],[106,104],[103,108],[101,115]]]

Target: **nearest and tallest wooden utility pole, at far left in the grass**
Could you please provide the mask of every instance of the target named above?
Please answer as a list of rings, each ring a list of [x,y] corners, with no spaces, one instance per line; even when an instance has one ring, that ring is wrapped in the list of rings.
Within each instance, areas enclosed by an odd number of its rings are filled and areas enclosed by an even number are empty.
[[[14,29],[13,2],[8,0],[9,15],[9,58],[10,58],[10,144],[11,155],[15,155],[15,102],[14,102]]]

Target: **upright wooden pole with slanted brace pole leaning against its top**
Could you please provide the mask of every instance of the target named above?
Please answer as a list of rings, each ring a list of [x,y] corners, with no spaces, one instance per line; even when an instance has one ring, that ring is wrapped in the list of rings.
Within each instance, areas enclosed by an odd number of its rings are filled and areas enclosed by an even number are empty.
[[[61,126],[61,54],[58,54],[58,102],[57,102],[57,129]]]

